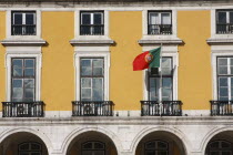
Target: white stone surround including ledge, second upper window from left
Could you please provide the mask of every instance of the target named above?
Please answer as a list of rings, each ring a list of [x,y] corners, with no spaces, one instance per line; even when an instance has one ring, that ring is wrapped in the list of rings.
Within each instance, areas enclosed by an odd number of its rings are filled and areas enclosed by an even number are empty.
[[[104,13],[104,34],[103,35],[80,35],[80,16],[82,11],[103,11]],[[71,44],[112,44],[113,41],[109,38],[109,11],[101,9],[85,8],[74,12],[74,39]]]

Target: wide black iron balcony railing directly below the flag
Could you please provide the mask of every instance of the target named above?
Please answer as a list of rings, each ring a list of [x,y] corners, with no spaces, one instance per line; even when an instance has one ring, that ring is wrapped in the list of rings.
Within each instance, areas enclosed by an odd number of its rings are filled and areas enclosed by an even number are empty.
[[[181,116],[181,101],[141,101],[142,116]]]

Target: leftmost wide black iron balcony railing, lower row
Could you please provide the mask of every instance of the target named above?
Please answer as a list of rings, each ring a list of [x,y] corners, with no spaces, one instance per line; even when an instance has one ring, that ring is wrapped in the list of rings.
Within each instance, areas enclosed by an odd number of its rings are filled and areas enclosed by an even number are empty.
[[[2,102],[2,117],[42,117],[44,103],[37,102]]]

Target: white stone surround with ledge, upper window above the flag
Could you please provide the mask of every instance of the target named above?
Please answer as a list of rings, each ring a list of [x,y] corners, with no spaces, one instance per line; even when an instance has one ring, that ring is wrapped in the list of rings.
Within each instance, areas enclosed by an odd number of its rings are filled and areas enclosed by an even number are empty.
[[[172,16],[172,34],[148,34],[148,12],[149,11],[171,11]],[[143,10],[142,11],[142,39],[139,40],[140,44],[146,43],[170,43],[170,44],[181,44],[182,40],[178,38],[178,25],[176,25],[176,10],[171,9],[158,9],[158,10]]]

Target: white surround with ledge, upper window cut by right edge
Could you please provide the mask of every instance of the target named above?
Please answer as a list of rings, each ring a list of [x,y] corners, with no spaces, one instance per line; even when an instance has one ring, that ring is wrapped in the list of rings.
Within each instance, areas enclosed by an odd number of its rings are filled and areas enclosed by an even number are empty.
[[[224,9],[221,8],[221,10],[224,10]],[[227,8],[225,10],[231,10],[231,8]],[[216,33],[216,11],[217,11],[217,9],[211,10],[211,38],[207,39],[206,42],[209,44],[233,43],[233,33],[231,33],[231,34],[217,34]]]

